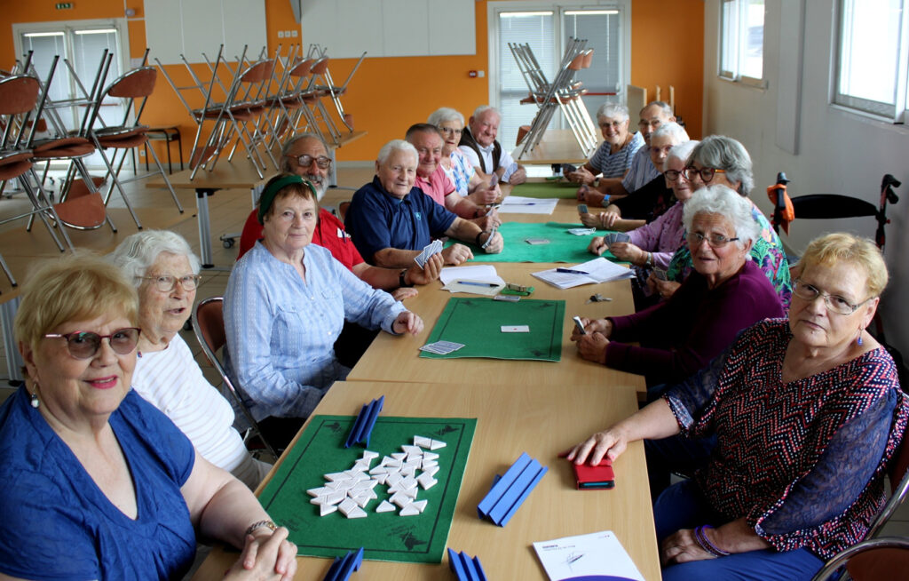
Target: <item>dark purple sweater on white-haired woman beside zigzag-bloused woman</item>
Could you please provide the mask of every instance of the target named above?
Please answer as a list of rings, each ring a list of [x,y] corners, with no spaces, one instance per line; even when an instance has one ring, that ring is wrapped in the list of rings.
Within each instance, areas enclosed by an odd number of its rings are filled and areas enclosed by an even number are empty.
[[[780,298],[754,262],[712,289],[695,270],[669,300],[609,317],[613,332],[604,363],[646,375],[651,384],[682,381],[723,353],[742,329],[779,316],[785,316]]]

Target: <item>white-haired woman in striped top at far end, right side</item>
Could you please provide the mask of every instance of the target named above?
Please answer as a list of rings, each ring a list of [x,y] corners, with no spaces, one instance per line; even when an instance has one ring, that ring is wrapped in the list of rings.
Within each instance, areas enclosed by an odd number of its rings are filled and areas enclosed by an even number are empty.
[[[631,160],[644,145],[644,135],[628,131],[628,107],[604,103],[596,111],[596,124],[603,133],[603,145],[577,171],[568,175],[575,184],[591,185],[597,175],[622,177],[631,167]]]

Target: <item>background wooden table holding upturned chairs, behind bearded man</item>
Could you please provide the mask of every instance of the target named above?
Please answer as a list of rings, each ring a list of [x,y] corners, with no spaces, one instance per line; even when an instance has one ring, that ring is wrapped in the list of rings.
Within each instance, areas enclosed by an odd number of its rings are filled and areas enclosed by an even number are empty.
[[[366,135],[365,131],[355,131],[341,137],[340,143],[335,147],[329,147],[329,155],[335,160],[335,149],[348,144],[360,137]],[[215,169],[208,171],[203,168],[196,172],[195,179],[192,178],[193,170],[187,169],[174,175],[168,176],[170,185],[175,189],[192,189],[195,190],[195,204],[198,208],[196,217],[199,222],[199,254],[202,259],[203,268],[215,268],[212,259],[212,228],[211,218],[209,216],[208,197],[214,195],[218,190],[224,189],[251,189],[259,182],[263,182],[259,177],[252,163],[243,158],[237,159],[234,163],[227,161],[226,156],[219,159],[215,164]],[[336,182],[335,164],[332,164],[332,173],[329,176],[329,184],[334,185]],[[266,178],[267,179],[267,178]],[[158,176],[149,180],[150,187],[165,187],[164,176]]]

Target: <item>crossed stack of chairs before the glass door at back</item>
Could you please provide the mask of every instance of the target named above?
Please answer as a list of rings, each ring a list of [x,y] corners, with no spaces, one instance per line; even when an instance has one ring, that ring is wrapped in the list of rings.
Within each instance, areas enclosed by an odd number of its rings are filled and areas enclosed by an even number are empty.
[[[520,156],[534,151],[543,139],[556,110],[564,115],[584,155],[593,154],[597,143],[596,125],[581,99],[585,90],[580,82],[574,81],[577,71],[588,68],[593,60],[594,50],[585,48],[586,44],[587,41],[582,39],[569,40],[552,83],[547,81],[530,45],[508,44],[530,90],[530,94],[521,103],[537,106],[533,123],[524,127],[519,134],[517,145],[523,145]]]

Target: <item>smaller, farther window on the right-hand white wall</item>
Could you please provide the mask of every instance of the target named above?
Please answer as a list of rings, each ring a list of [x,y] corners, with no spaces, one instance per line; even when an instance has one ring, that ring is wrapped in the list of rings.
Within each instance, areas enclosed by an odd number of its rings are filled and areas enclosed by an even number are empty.
[[[764,84],[764,0],[723,0],[720,5],[720,76]]]

